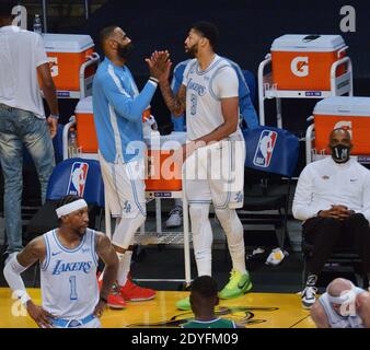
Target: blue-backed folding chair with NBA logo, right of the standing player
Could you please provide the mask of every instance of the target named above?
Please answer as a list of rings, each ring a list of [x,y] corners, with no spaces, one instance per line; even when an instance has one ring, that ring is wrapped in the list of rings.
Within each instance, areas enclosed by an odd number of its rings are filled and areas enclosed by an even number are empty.
[[[274,127],[245,129],[243,135],[246,148],[244,206],[238,214],[243,224],[273,224],[284,249],[299,140],[289,131]]]

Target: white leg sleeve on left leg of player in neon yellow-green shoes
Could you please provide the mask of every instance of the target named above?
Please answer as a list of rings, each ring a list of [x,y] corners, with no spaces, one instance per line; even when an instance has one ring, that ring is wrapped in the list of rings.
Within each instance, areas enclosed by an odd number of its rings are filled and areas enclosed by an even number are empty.
[[[198,276],[211,276],[212,229],[209,222],[209,205],[190,205],[189,214]]]

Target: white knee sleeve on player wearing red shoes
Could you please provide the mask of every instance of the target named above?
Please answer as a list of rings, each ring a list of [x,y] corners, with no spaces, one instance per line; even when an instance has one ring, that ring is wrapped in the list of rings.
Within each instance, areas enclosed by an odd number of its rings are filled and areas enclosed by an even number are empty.
[[[127,249],[132,245],[135,233],[146,222],[146,219],[147,217],[140,211],[138,211],[135,218],[122,218],[114,231],[112,243]]]

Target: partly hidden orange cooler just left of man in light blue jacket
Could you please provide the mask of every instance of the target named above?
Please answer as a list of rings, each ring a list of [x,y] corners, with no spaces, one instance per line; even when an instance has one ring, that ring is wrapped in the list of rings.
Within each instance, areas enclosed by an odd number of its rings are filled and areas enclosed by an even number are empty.
[[[97,153],[92,97],[82,98],[76,106],[77,143],[82,153]]]

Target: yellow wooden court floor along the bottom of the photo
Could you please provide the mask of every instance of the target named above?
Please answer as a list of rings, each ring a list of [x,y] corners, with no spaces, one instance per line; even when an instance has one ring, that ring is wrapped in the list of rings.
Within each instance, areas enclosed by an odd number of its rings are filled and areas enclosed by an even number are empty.
[[[39,289],[28,289],[36,303],[41,303]],[[175,308],[175,302],[187,292],[158,292],[154,300],[128,303],[126,310],[107,310],[102,317],[103,327],[150,328],[178,327],[194,315]],[[0,289],[0,328],[31,328],[35,323],[22,314],[20,303],[11,299],[9,289]],[[312,328],[314,324],[300,305],[297,294],[250,293],[242,298],[221,301],[217,313],[245,325],[246,328]]]

